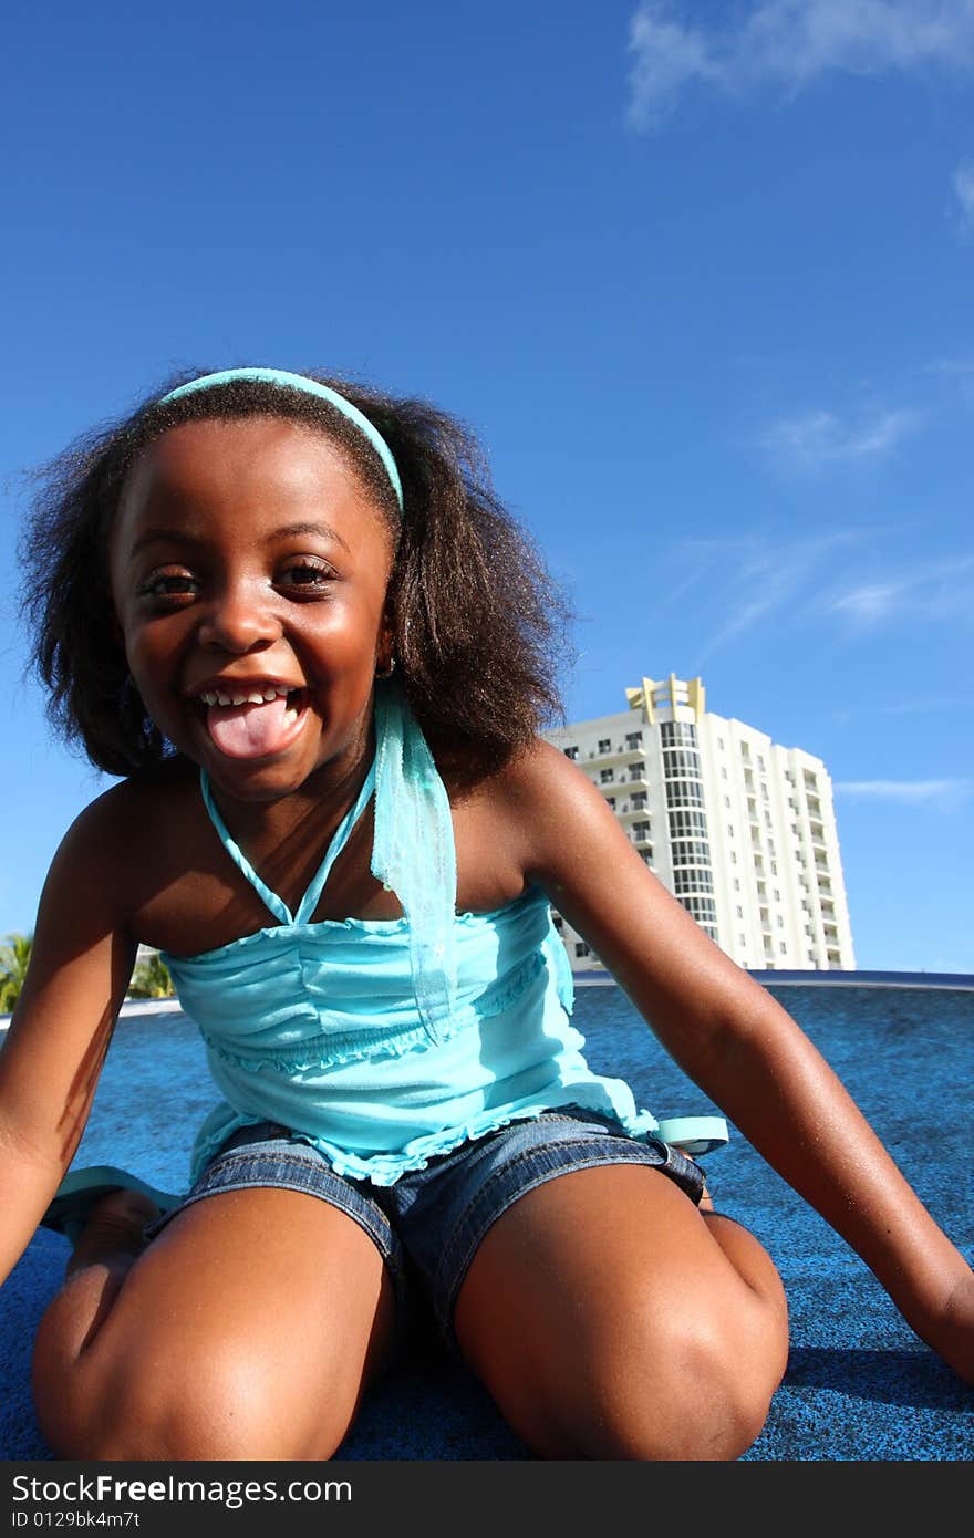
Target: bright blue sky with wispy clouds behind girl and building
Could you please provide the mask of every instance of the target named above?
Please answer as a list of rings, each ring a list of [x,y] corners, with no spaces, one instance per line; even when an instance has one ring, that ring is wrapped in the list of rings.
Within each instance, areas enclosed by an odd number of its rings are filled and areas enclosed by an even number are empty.
[[[0,935],[108,783],[23,680],[25,471],[272,363],[466,418],[569,720],[700,674],[825,760],[859,966],[974,970],[972,0],[109,0],[5,52]]]

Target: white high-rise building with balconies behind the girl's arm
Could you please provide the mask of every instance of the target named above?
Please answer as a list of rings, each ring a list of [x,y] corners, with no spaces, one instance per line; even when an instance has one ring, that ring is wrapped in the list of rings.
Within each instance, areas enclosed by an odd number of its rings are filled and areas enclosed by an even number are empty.
[[[854,970],[832,783],[820,758],[705,709],[700,678],[546,732],[602,791],[663,886],[749,969]],[[602,963],[555,917],[574,970]]]

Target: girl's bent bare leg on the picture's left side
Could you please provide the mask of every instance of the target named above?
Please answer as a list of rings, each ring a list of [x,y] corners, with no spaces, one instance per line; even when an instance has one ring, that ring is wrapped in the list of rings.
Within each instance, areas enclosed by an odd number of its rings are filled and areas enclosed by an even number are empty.
[[[62,1458],[328,1458],[394,1327],[379,1249],[295,1190],[206,1197],[143,1253],[146,1212],[102,1203],[34,1357]]]

